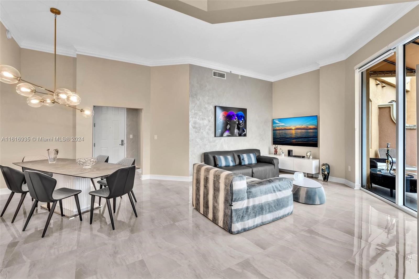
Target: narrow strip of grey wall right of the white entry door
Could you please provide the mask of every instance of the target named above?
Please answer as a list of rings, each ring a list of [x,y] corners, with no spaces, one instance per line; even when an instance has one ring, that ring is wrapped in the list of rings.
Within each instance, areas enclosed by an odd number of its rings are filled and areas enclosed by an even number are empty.
[[[132,134],[132,139],[129,135]],[[138,154],[138,109],[127,109],[127,154],[129,158],[135,158],[135,165],[140,165]]]

